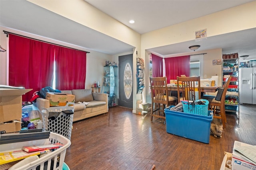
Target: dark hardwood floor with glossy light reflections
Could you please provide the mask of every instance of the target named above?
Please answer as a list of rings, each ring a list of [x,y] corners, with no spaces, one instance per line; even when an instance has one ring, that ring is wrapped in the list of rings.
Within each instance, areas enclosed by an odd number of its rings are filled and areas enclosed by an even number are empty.
[[[234,141],[256,145],[256,106],[240,105],[240,117],[227,113],[222,137],[205,144],[166,133],[150,113],[112,107],[109,112],[73,123],[65,163],[70,170],[218,170]],[[194,132],[195,135],[198,132]]]

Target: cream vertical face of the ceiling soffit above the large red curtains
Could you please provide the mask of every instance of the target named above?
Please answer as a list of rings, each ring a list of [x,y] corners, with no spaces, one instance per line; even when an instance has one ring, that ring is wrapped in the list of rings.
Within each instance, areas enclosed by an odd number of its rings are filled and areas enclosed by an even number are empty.
[[[86,27],[123,41],[140,50],[140,34],[84,0],[28,0]],[[60,8],[61,7],[61,8]]]

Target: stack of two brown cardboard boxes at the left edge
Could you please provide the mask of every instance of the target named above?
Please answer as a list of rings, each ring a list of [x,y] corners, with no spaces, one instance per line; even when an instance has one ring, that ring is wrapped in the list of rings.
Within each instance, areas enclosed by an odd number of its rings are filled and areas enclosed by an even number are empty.
[[[0,88],[0,131],[20,131],[22,95],[32,89]]]

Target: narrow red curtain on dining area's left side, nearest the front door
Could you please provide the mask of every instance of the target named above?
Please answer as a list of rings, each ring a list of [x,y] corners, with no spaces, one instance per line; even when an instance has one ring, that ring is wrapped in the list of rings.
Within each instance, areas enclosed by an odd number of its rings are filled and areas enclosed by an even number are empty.
[[[152,77],[163,76],[163,58],[157,55],[152,55]]]

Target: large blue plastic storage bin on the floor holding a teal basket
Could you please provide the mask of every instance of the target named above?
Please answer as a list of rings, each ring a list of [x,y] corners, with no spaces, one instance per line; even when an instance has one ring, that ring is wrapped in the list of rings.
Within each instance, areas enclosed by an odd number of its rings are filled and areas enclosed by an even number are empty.
[[[208,115],[196,115],[164,109],[166,117],[166,131],[180,137],[185,137],[202,143],[209,143],[212,111]]]

